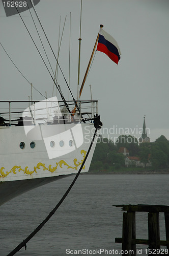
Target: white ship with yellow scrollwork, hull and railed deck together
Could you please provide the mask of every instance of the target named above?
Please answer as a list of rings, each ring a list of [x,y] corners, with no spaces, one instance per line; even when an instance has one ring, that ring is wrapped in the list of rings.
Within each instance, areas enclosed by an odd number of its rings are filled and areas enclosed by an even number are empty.
[[[79,101],[74,116],[56,97],[36,102],[23,112],[19,105],[29,102],[1,103],[9,105],[9,112],[1,112],[0,119],[0,205],[78,172],[95,131],[97,101]],[[88,172],[95,146],[96,139],[81,173]]]

